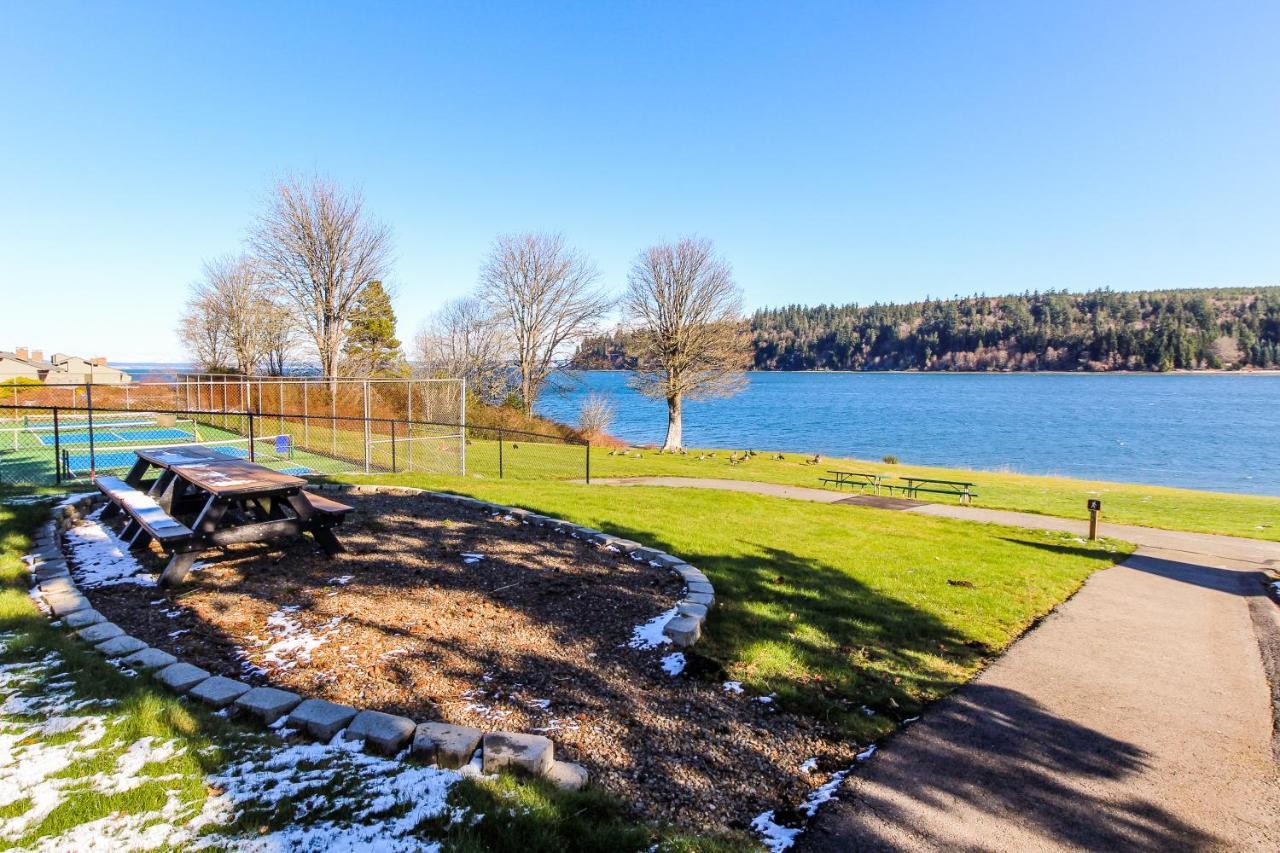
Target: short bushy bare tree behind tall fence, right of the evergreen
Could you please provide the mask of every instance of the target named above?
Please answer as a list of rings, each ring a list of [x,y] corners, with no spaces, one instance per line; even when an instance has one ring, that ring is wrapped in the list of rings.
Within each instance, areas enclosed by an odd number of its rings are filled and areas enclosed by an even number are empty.
[[[500,402],[511,391],[506,330],[479,298],[454,300],[436,311],[419,329],[415,350],[429,374],[465,378],[486,402]]]

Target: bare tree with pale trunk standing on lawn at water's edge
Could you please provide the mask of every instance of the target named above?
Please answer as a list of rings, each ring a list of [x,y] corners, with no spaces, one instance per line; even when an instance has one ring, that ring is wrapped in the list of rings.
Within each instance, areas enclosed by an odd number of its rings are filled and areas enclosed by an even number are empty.
[[[742,293],[709,240],[686,237],[636,257],[623,305],[635,325],[632,384],[667,401],[663,450],[684,444],[684,402],[737,393],[751,347]]]

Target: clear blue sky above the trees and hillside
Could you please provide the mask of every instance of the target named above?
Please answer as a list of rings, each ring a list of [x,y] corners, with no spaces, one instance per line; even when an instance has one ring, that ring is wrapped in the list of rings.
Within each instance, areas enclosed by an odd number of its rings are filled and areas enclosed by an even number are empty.
[[[493,237],[749,306],[1280,282],[1280,4],[4,4],[0,348],[178,359],[271,179],[364,190],[401,334]],[[24,309],[24,310],[15,310]]]

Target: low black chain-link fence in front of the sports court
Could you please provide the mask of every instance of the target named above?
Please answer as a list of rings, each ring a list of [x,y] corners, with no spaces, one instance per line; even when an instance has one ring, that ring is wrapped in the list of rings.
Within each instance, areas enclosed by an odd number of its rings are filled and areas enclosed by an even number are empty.
[[[305,478],[435,474],[474,479],[591,478],[590,442],[407,418],[0,403],[0,485],[120,475],[134,450],[200,444]]]

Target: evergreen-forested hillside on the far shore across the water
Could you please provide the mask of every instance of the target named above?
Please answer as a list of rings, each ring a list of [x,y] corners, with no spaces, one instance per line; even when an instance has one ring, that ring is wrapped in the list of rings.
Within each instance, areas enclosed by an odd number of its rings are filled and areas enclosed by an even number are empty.
[[[750,321],[759,370],[1280,368],[1280,287],[790,305]],[[627,348],[622,330],[591,338],[573,366],[634,366]]]

